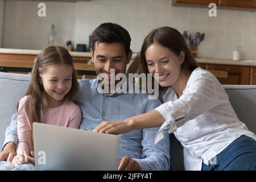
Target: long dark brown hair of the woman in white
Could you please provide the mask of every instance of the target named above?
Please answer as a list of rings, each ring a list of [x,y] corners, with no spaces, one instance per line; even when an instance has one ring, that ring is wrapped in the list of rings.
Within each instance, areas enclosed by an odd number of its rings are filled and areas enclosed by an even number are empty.
[[[152,44],[158,43],[163,47],[169,48],[170,51],[174,52],[176,56],[180,55],[181,51],[184,51],[185,58],[181,64],[181,72],[191,73],[198,67],[195,59],[189,51],[188,45],[183,39],[183,36],[175,28],[171,27],[160,27],[152,30],[144,39],[141,48],[141,65],[144,73],[149,73],[146,62],[146,50]],[[154,85],[154,84],[153,84]],[[159,85],[159,93],[163,93],[166,88]]]

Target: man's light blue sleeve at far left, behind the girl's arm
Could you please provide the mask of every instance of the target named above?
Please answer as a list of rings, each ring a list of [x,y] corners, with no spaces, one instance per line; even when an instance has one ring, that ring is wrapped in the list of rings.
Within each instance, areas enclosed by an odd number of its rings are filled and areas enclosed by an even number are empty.
[[[17,145],[18,134],[17,134],[17,114],[13,114],[11,117],[10,126],[5,130],[5,142],[3,142],[2,150],[5,148],[6,144],[13,142]]]

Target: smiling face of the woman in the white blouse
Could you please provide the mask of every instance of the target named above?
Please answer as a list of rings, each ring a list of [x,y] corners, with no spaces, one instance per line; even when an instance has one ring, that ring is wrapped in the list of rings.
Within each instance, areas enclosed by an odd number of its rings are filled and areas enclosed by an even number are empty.
[[[180,77],[181,64],[184,61],[184,52],[181,51],[176,56],[170,49],[154,43],[146,49],[146,62],[148,72],[157,78],[158,73],[159,84],[163,87],[172,86]]]

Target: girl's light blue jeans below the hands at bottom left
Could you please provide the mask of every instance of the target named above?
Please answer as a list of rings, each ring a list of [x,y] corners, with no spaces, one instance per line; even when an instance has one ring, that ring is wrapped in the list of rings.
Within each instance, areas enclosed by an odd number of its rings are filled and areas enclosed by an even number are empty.
[[[11,163],[1,161],[0,171],[35,171],[35,166],[33,164],[22,164],[15,168]]]

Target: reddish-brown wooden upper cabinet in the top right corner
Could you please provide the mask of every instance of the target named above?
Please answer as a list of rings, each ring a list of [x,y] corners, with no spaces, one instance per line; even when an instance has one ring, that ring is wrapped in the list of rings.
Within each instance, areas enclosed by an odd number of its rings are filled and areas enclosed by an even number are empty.
[[[218,6],[256,9],[256,0],[218,0]]]

